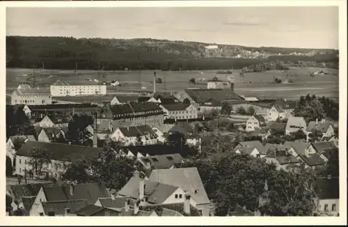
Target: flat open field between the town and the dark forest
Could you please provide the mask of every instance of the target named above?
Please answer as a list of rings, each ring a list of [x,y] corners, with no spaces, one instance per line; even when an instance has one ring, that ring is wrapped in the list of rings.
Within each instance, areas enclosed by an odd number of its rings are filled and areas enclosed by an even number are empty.
[[[293,84],[274,84],[274,78],[278,77],[283,81],[286,79],[284,72],[273,70],[267,72],[250,72],[244,77],[239,77],[240,70],[233,70],[235,76],[235,91],[239,95],[256,97],[287,97],[296,98],[307,93],[315,95],[325,95],[328,97],[338,97],[338,70],[324,69],[332,75],[315,75],[309,77],[309,72],[323,70],[322,68],[290,68],[287,72],[287,79],[292,79]],[[13,69],[6,70],[6,93],[13,91],[18,84],[32,84],[32,69]],[[26,76],[24,76],[26,75]],[[39,86],[49,86],[57,79],[63,81],[79,81],[99,79],[100,81],[120,81],[119,88],[109,86],[108,93],[117,91],[152,91],[153,71],[90,71],[79,70],[36,70],[35,84]],[[206,80],[216,75],[219,79],[226,80],[228,75],[216,74],[216,70],[207,71],[166,71],[157,70],[157,77],[163,83],[156,84],[157,91],[181,91],[184,88],[196,87],[206,88]],[[201,78],[200,84],[189,84],[190,78]],[[139,83],[140,81],[140,83]]]

